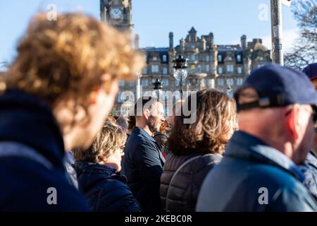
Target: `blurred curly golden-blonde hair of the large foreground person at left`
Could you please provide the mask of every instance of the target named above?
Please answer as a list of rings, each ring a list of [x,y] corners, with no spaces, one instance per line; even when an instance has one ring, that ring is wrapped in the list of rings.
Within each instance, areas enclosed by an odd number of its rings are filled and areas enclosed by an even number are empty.
[[[18,43],[18,55],[6,76],[8,88],[40,97],[51,107],[60,100],[75,100],[87,107],[93,91],[112,81],[135,78],[143,66],[130,38],[82,13],[65,13],[56,21],[37,14]],[[103,83],[101,76],[111,75]]]

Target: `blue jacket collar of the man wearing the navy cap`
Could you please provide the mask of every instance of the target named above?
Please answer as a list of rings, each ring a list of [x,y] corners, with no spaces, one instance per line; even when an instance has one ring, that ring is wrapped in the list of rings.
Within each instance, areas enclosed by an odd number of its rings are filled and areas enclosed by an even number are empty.
[[[247,160],[256,160],[264,164],[274,165],[292,174],[300,182],[304,182],[304,174],[286,155],[243,131],[237,131],[225,148],[224,156],[232,156]]]

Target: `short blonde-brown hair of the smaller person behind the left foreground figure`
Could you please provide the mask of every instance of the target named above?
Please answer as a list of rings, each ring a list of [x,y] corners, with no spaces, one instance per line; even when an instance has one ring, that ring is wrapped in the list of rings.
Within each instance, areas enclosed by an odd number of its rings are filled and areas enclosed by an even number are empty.
[[[127,135],[120,126],[106,121],[104,127],[97,133],[94,143],[87,150],[74,150],[75,160],[98,163],[100,157],[109,157],[118,148],[125,145]]]

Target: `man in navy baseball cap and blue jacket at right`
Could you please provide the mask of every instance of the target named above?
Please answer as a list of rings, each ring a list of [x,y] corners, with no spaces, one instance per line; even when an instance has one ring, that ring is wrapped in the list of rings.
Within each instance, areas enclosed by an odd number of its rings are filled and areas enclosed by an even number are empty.
[[[197,211],[316,211],[297,165],[312,147],[317,93],[300,72],[257,69],[235,93],[240,131],[207,175]]]

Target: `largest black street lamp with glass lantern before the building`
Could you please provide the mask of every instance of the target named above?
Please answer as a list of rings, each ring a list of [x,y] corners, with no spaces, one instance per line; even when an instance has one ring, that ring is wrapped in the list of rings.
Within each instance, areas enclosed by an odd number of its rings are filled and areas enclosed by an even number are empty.
[[[179,82],[180,100],[182,100],[182,83],[187,77],[188,59],[178,55],[178,58],[173,60],[173,68],[174,77]]]

